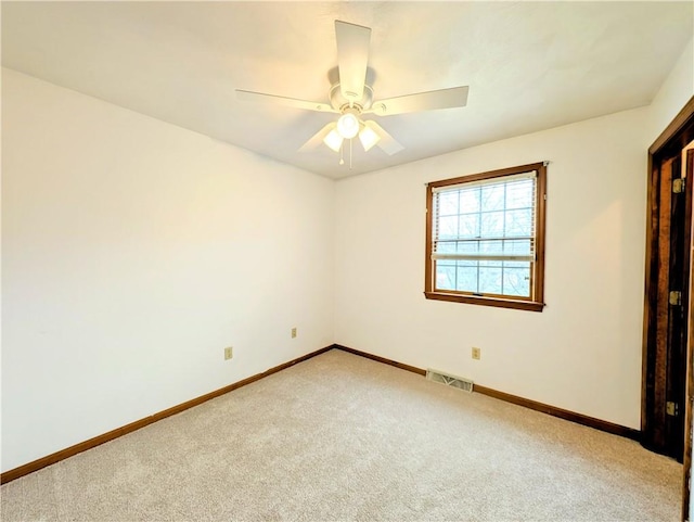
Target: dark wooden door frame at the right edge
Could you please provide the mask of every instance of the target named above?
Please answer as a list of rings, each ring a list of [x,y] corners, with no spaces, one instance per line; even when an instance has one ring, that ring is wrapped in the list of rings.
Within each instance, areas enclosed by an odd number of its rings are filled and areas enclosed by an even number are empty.
[[[645,256],[645,296],[642,346],[642,394],[641,394],[641,443],[654,451],[663,453],[665,444],[665,403],[667,353],[656,342],[657,326],[657,278],[658,278],[658,241],[660,229],[659,217],[659,181],[660,162],[681,153],[682,149],[694,140],[694,97],[692,97],[663,133],[648,148],[648,183],[646,211],[646,256]],[[693,180],[687,180],[685,190],[693,190]],[[690,242],[690,247],[692,246]],[[692,296],[692,263],[690,257],[690,296]],[[690,297],[691,298],[691,297]],[[686,390],[684,397],[684,476],[682,494],[682,520],[689,520],[689,473],[691,471],[692,436],[691,419],[694,384],[692,375],[692,352],[694,349],[694,306],[690,304],[686,340]],[[660,344],[660,346],[663,346]],[[667,351],[665,351],[667,352]]]

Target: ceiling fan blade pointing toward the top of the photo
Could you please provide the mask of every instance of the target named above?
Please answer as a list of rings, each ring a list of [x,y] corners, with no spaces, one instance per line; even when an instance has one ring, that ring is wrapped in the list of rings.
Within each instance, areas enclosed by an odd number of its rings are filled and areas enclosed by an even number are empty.
[[[359,101],[364,93],[371,29],[335,21],[339,90],[347,100]]]

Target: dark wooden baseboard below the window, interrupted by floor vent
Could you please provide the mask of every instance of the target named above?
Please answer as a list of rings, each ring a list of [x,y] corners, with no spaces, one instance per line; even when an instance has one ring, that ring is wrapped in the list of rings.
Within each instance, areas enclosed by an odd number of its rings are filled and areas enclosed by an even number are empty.
[[[414,366],[404,365],[402,362],[398,362],[391,359],[386,359],[385,357],[380,357],[377,355],[360,352],[359,349],[348,348],[347,346],[342,346],[339,344],[335,344],[334,347],[342,349],[344,352],[349,352],[350,354],[365,357],[368,359],[383,362],[385,365],[395,366],[396,368],[400,368],[402,370],[412,371],[421,375],[426,374],[426,370],[422,368],[416,368]],[[641,440],[641,432],[639,430],[634,430],[633,428],[627,428],[620,424],[615,424],[614,422],[595,419],[594,417],[576,413],[574,411],[557,408],[555,406],[538,403],[537,400],[530,400],[529,398],[518,397],[517,395],[511,395],[510,393],[499,392],[490,387],[480,386],[479,384],[474,384],[473,391],[476,393],[480,393],[483,395],[488,395],[489,397],[498,398],[500,400],[505,400],[506,403],[512,403],[517,406],[523,406],[525,408],[530,408],[536,411],[541,411],[543,413],[551,415],[553,417],[558,417],[560,419],[568,420],[570,422],[576,422],[577,424],[583,424],[590,428],[594,428],[595,430],[613,433],[615,435],[631,438],[633,441]]]

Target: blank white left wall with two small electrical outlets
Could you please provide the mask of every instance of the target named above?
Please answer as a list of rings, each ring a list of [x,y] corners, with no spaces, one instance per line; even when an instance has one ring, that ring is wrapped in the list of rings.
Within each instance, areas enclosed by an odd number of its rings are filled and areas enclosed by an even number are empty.
[[[333,343],[333,181],[9,69],[2,110],[2,471]]]

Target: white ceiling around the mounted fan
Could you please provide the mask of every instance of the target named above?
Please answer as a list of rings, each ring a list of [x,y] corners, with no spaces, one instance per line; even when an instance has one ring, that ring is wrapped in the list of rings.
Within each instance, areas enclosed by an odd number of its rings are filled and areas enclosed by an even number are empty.
[[[331,178],[648,104],[694,27],[684,2],[2,2],[3,66]],[[334,115],[334,21],[371,27],[375,99],[470,86],[375,119],[406,150],[297,149]]]

